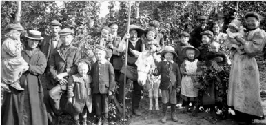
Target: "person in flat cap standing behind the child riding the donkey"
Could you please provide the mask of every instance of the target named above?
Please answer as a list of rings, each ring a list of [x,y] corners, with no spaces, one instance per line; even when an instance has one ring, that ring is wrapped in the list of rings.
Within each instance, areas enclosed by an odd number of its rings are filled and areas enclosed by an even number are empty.
[[[153,28],[156,28],[156,30],[158,32],[159,27],[160,27],[160,23],[158,21],[156,21],[156,20],[153,20],[153,21],[150,21],[149,26],[153,27]],[[155,40],[158,41],[158,43],[161,46],[161,50],[163,50],[163,48],[165,46],[165,41],[163,39],[163,35],[161,33],[159,33],[159,32],[156,33],[156,34],[157,34],[157,36],[156,36]]]

